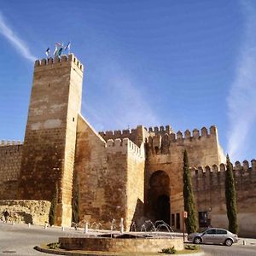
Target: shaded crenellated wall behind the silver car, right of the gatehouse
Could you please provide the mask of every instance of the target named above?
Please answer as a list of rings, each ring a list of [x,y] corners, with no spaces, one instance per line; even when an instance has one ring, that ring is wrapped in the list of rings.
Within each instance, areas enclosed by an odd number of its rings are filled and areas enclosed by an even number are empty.
[[[237,212],[240,236],[255,236],[256,220],[256,160],[236,161],[234,177],[236,181]],[[228,228],[225,205],[225,166],[213,165],[192,171],[193,187],[198,212],[207,212],[212,226]]]

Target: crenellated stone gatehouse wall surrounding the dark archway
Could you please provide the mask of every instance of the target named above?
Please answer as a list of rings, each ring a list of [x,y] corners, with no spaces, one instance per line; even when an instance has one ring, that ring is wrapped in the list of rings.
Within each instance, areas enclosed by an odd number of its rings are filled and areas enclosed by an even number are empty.
[[[152,205],[156,202],[152,201],[150,196],[150,178],[157,171],[165,172],[170,180],[169,195],[171,201],[171,215],[175,218],[172,222],[173,228],[178,228],[177,214],[181,216],[183,209],[183,151],[187,149],[189,154],[190,166],[206,166],[214,163],[221,163],[224,159],[222,149],[218,144],[218,133],[215,126],[209,131],[203,127],[200,131],[195,129],[192,132],[185,131],[184,136],[181,131],[177,134],[170,133],[164,136],[156,134],[148,137],[146,144],[147,160],[146,160],[146,178],[145,178],[145,197],[146,212],[148,218],[154,218]]]

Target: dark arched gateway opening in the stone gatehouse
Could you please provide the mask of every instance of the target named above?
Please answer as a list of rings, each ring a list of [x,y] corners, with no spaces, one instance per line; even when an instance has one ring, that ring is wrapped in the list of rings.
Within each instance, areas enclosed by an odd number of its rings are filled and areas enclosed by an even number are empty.
[[[154,172],[149,180],[149,218],[170,224],[170,178],[164,171]]]

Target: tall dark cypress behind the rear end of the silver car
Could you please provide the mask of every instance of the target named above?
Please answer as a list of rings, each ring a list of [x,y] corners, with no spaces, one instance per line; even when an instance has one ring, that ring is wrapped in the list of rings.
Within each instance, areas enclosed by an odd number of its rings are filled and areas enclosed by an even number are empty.
[[[229,219],[230,232],[237,234],[237,207],[236,207],[236,187],[233,174],[233,166],[230,163],[229,155],[227,154],[227,170],[225,172],[225,198],[227,207],[227,216]]]

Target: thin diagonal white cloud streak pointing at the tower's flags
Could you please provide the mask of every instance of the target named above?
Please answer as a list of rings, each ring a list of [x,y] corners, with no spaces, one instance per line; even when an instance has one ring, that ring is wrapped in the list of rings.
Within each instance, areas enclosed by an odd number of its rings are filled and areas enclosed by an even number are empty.
[[[25,57],[29,61],[35,61],[37,58],[32,55],[26,43],[21,40],[15,32],[11,29],[11,27],[4,19],[3,15],[0,13],[0,33],[3,35],[4,38],[9,40],[9,43],[12,44],[17,52]]]

